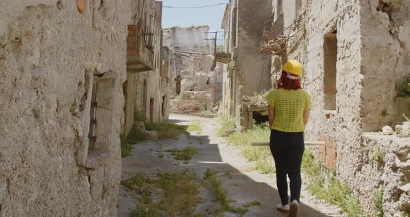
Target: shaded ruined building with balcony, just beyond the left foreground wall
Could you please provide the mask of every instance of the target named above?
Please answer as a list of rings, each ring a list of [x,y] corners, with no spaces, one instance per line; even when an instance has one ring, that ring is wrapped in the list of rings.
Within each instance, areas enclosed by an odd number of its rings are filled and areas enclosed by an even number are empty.
[[[149,122],[167,120],[170,104],[173,53],[162,46],[162,1],[134,2],[129,13],[123,86],[124,135],[129,134],[136,113]]]

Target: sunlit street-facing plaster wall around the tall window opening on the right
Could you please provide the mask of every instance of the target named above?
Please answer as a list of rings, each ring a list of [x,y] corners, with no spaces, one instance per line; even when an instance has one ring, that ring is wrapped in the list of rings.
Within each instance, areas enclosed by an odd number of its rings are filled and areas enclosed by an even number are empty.
[[[318,7],[320,5],[320,7]],[[355,182],[359,163],[361,134],[361,31],[359,2],[313,1],[306,10],[307,57],[304,64],[305,89],[312,96],[311,118],[306,140],[318,140],[320,134],[334,140],[337,150],[337,174],[350,187]],[[325,110],[324,49],[325,34],[337,29],[336,110]],[[342,91],[343,90],[343,91]],[[354,189],[356,190],[356,189]]]

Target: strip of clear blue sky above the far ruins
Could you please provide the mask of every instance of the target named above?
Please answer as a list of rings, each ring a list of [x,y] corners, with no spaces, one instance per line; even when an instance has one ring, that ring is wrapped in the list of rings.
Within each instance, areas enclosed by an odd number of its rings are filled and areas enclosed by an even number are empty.
[[[228,0],[163,0],[163,6],[195,7],[227,3]],[[198,26],[208,24],[211,31],[219,31],[225,6],[211,8],[177,9],[163,8],[163,28],[172,26]]]

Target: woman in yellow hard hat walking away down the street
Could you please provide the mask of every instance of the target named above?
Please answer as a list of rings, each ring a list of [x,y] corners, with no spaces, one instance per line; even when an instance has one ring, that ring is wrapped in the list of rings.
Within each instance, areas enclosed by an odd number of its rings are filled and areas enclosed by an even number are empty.
[[[282,68],[276,90],[268,96],[270,151],[276,166],[277,188],[281,203],[277,210],[297,216],[300,202],[300,166],[304,152],[304,127],[309,118],[311,96],[300,86],[302,65],[290,60]],[[288,204],[288,182],[290,179],[290,205]]]

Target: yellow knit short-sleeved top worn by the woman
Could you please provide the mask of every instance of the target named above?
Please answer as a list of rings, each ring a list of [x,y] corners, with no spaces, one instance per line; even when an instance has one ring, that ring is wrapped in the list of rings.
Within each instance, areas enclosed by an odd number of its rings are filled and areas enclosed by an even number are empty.
[[[271,129],[288,133],[303,132],[303,112],[311,104],[311,95],[306,91],[272,90],[267,96],[268,104],[274,109]]]

